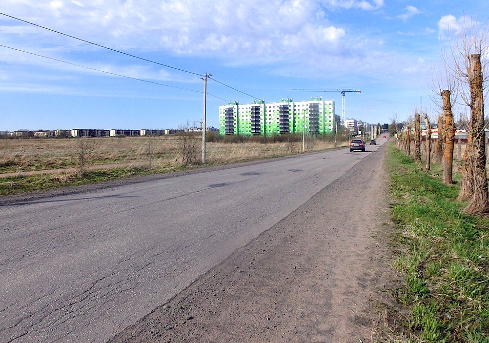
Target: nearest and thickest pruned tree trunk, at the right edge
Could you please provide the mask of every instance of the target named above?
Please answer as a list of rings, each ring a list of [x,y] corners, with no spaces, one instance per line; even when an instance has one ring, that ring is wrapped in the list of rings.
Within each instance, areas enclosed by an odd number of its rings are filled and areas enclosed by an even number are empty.
[[[465,212],[469,214],[485,214],[489,212],[489,194],[486,173],[486,134],[484,131],[481,55],[470,54],[468,60],[467,79],[470,89],[469,135],[472,135],[472,144],[468,147],[471,152],[467,162],[472,166],[473,194]]]

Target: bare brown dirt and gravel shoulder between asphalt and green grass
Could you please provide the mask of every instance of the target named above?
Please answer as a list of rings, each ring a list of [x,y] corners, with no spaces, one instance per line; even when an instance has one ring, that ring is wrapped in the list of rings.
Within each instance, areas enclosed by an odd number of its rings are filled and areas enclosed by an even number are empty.
[[[110,342],[371,342],[397,282],[384,151]]]

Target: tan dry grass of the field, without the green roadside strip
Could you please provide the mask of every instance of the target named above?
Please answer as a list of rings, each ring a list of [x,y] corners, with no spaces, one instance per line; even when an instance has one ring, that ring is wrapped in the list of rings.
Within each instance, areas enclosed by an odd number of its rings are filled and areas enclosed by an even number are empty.
[[[178,167],[181,157],[178,137],[90,138],[96,143],[92,165],[142,162],[155,166]],[[76,167],[77,139],[1,139],[0,173],[31,172]],[[197,145],[200,163],[201,143]],[[284,156],[302,151],[302,142],[294,143],[206,143],[208,164],[248,161]],[[307,140],[307,151],[333,148],[331,142]]]

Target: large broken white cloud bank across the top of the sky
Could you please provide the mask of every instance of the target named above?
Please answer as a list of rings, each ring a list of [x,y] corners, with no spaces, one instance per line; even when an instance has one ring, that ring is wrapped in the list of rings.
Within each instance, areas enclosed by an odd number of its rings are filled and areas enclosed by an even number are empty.
[[[389,68],[383,61],[386,56],[378,52],[385,49],[383,37],[355,37],[325,13],[334,8],[375,10],[384,6],[384,0],[161,0],[156,5],[153,0],[58,0],[62,6],[56,12],[49,0],[23,1],[22,6],[10,5],[9,13],[156,61],[161,58],[154,56],[162,55],[187,61],[205,57],[225,65],[267,65],[271,72],[304,76],[317,76],[317,68],[322,68],[328,75],[354,70],[377,77]],[[80,52],[95,60],[100,56],[99,48],[35,30],[37,35],[22,38],[23,46],[32,44],[35,51],[68,61],[79,61]],[[19,38],[14,32],[7,36],[10,42]],[[46,53],[46,47],[53,46]],[[154,70],[117,68],[117,62],[109,67],[121,74],[154,78]]]

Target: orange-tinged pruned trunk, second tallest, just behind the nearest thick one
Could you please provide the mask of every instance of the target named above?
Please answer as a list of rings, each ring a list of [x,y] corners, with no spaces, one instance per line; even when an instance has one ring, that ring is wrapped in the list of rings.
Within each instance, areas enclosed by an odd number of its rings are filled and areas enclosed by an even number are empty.
[[[452,104],[449,90],[442,90],[443,99],[443,135],[445,144],[443,147],[443,182],[452,184],[453,171],[453,144],[455,142],[455,124],[453,123]]]

